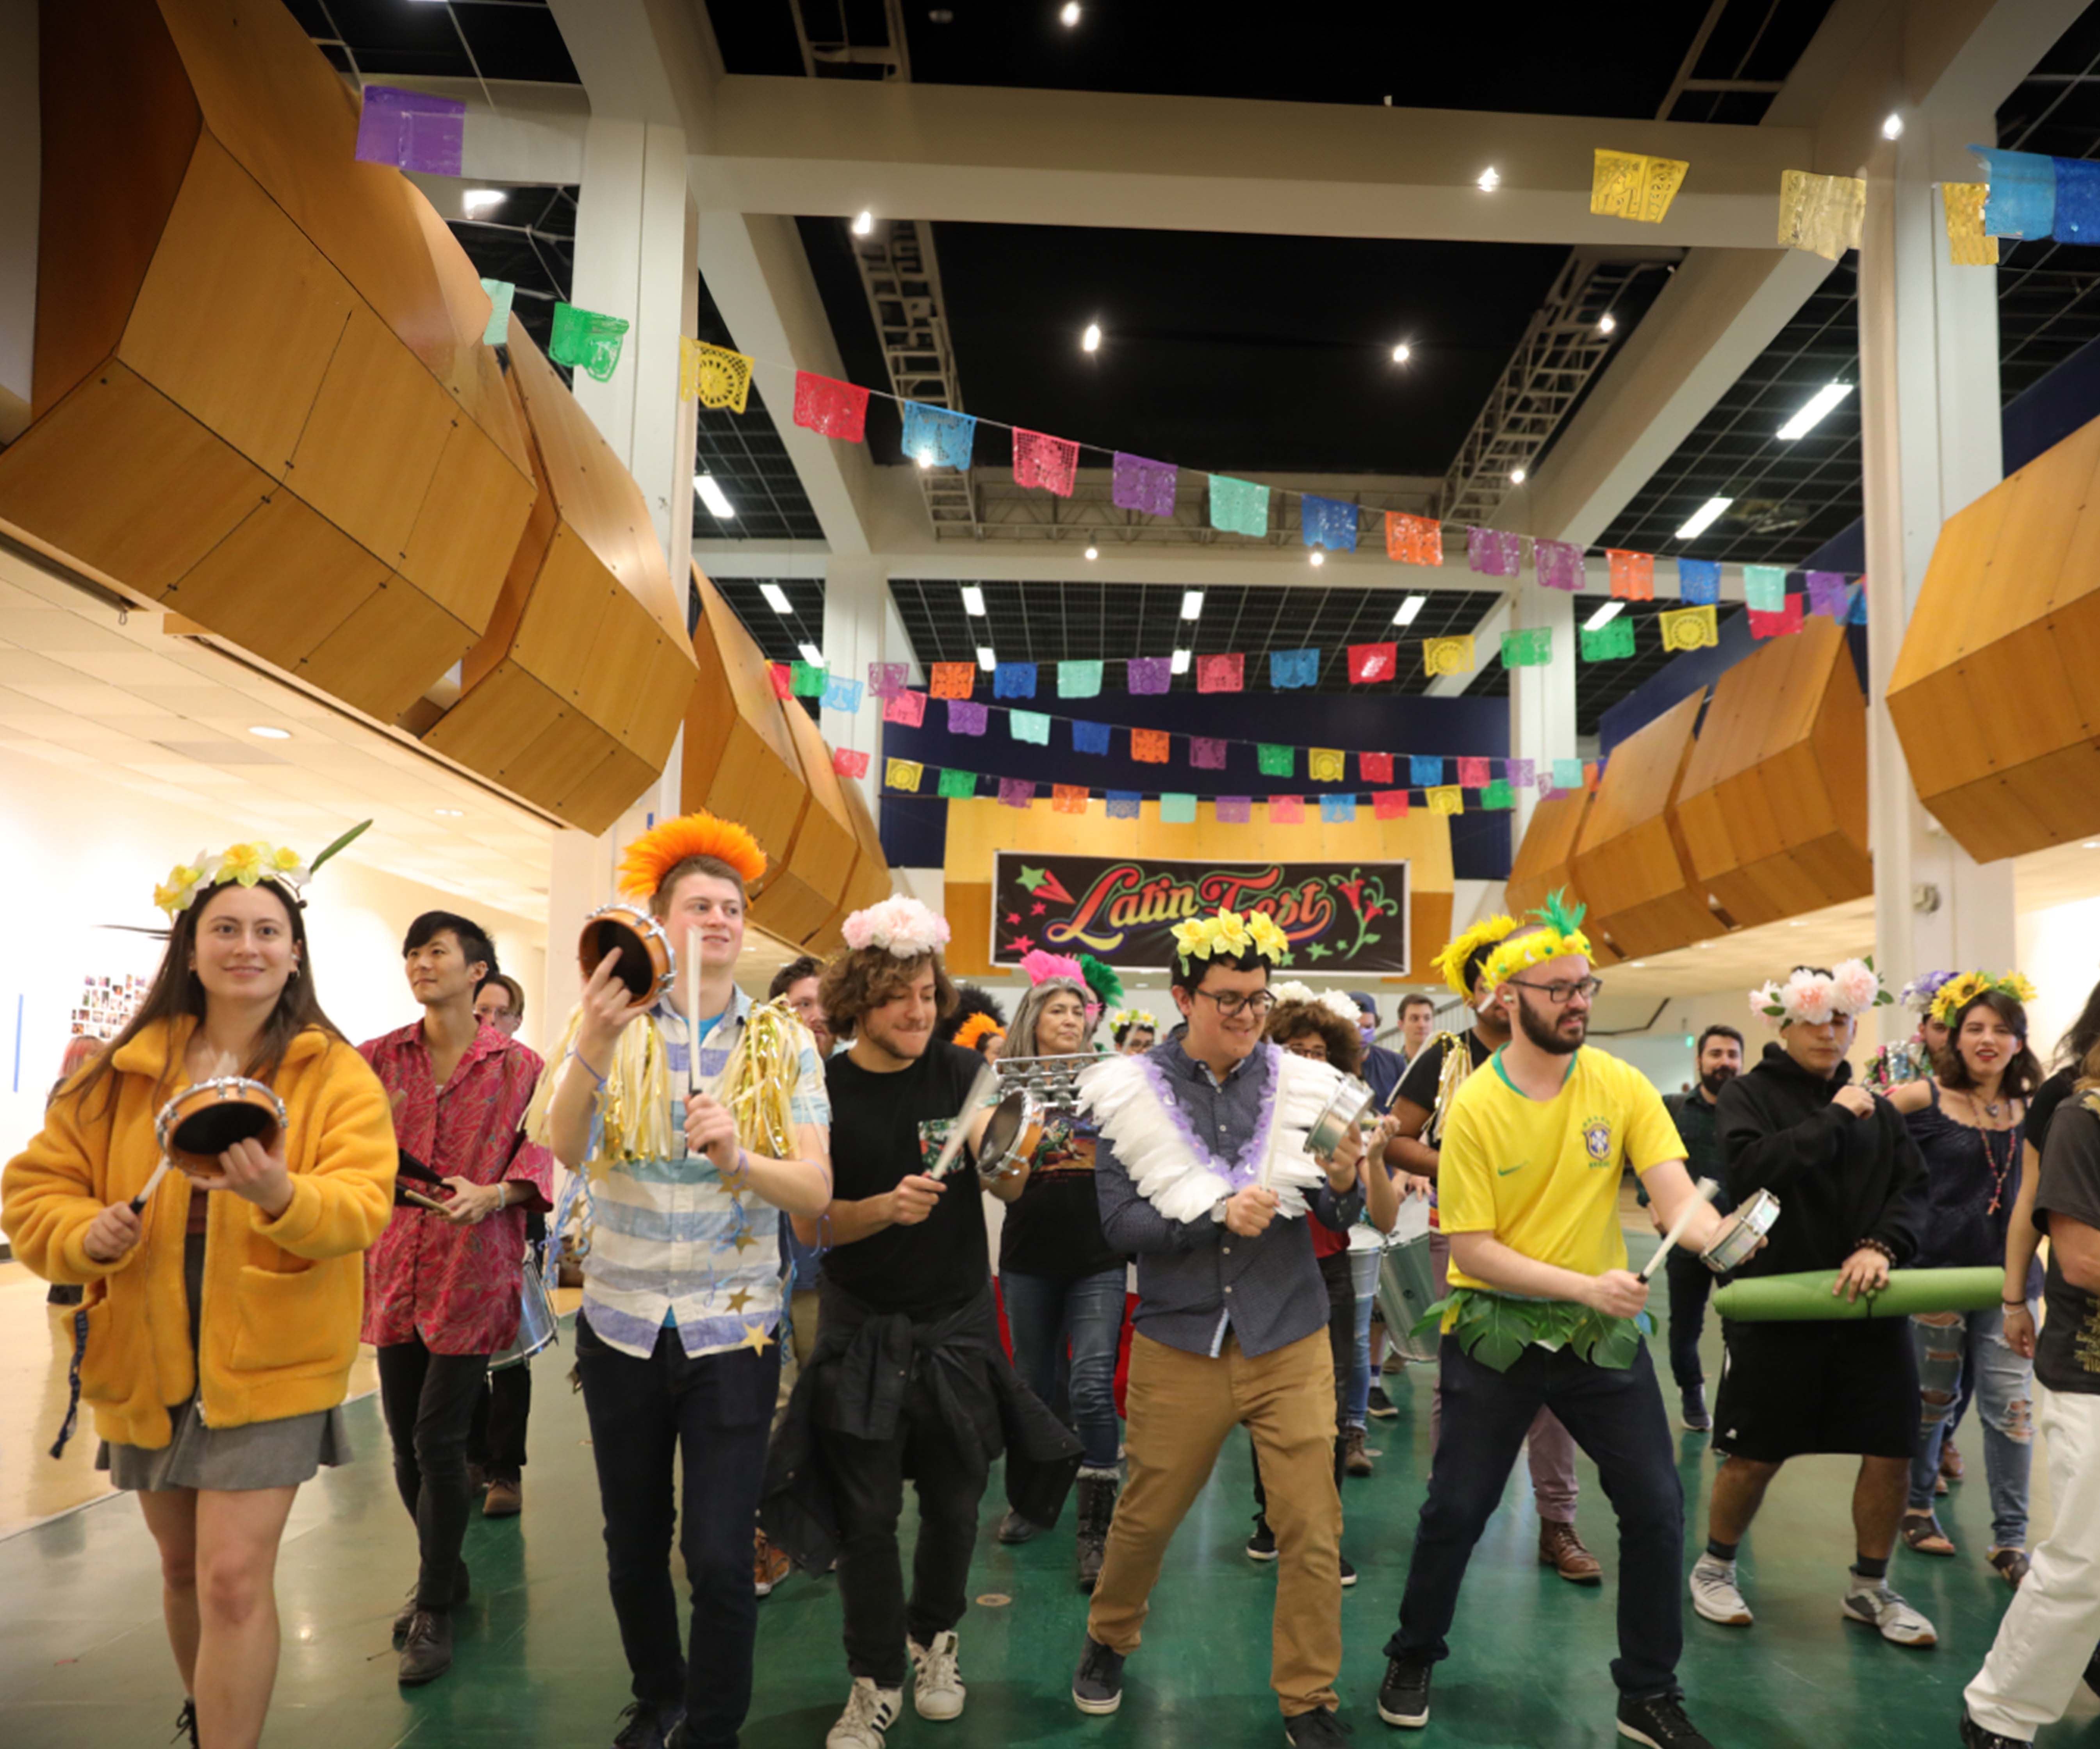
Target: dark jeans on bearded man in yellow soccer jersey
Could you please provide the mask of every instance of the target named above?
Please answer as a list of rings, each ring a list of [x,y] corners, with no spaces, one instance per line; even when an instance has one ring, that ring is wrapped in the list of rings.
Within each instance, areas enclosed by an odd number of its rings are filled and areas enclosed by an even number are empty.
[[[1646,1344],[1632,1367],[1592,1367],[1564,1348],[1533,1346],[1510,1371],[1497,1373],[1447,1335],[1438,1367],[1443,1440],[1415,1526],[1401,1629],[1386,1642],[1386,1657],[1449,1657],[1445,1634],[1472,1545],[1502,1501],[1516,1451],[1544,1407],[1596,1461],[1604,1495],[1619,1514],[1619,1657],[1611,1661],[1611,1680],[1621,1694],[1678,1692],[1684,1484]]]

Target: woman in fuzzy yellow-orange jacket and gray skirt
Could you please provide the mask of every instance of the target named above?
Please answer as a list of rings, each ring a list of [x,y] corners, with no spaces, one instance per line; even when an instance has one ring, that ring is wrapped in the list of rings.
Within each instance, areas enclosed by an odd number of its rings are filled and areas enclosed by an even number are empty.
[[[99,1463],[136,1491],[160,1545],[191,1749],[262,1736],[277,1541],[298,1484],[349,1459],[359,1253],[393,1201],[386,1094],[315,993],[298,890],[326,859],[235,844],[176,867],[155,892],[172,928],[139,1012],[0,1176],[15,1256],[86,1287],[78,1392]],[[284,1123],[181,1159],[134,1209],[162,1161],[158,1115],[225,1075],[256,1083],[271,1117],[281,1100]]]

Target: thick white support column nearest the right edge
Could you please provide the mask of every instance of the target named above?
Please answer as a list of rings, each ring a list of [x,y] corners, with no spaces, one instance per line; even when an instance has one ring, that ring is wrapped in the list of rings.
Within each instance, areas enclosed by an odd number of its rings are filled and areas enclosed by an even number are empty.
[[[1913,113],[1867,174],[1858,355],[1867,475],[1869,840],[1875,947],[1919,970],[2014,964],[2012,863],[1974,863],[1917,802],[1884,697],[1940,523],[2003,477],[1997,273],[1953,267],[1938,181],[1976,178],[1989,105]],[[1898,1010],[1886,1010],[1896,1014]],[[1907,1020],[1884,1020],[1894,1035]]]

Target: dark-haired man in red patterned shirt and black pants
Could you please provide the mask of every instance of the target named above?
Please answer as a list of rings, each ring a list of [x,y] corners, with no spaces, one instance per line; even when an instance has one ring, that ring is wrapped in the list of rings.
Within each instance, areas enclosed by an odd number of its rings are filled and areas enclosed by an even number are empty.
[[[401,962],[422,1018],[357,1050],[393,1098],[401,1151],[445,1184],[443,1214],[403,1203],[365,1258],[363,1335],[380,1354],[395,1487],[420,1550],[395,1617],[397,1676],[416,1686],[452,1669],[452,1606],[468,1592],[466,1440],[489,1356],[517,1337],[525,1214],[552,1207],[552,1163],[519,1134],[538,1054],[475,1012],[496,972],[487,930],[424,911]]]

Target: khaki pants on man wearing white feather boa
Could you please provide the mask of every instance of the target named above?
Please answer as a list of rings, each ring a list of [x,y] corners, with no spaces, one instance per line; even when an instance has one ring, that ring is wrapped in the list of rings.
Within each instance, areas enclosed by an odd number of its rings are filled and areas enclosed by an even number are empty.
[[[1224,1436],[1245,1424],[1279,1556],[1268,1686],[1285,1718],[1338,1705],[1342,1497],[1334,1487],[1327,1331],[1260,1358],[1241,1354],[1233,1335],[1210,1358],[1140,1331],[1130,1340],[1128,1409],[1130,1487],[1115,1503],[1086,1631],[1113,1652],[1136,1650],[1168,1543],[1210,1480]]]

